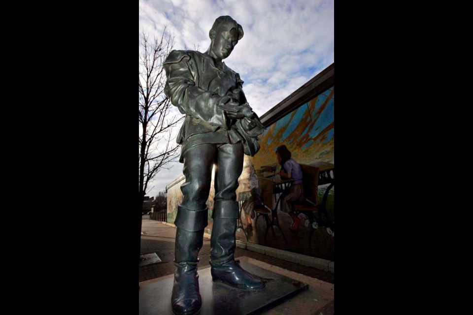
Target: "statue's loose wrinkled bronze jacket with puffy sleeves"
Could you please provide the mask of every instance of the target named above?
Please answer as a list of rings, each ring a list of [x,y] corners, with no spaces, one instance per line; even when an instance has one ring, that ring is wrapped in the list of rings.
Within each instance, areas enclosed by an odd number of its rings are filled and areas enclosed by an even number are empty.
[[[228,119],[217,106],[230,97],[246,102],[238,73],[225,63],[220,69],[210,56],[190,50],[171,51],[163,66],[168,79],[165,95],[186,114],[176,139],[183,145],[180,162],[187,149],[199,144],[245,143],[244,135],[238,132],[241,122]]]

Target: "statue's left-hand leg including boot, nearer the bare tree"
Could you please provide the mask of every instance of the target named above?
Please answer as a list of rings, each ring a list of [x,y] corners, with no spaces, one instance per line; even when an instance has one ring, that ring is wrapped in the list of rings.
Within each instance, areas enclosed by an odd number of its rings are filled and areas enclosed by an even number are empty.
[[[199,292],[197,258],[203,245],[203,229],[207,226],[208,210],[205,202],[210,189],[215,145],[198,145],[184,152],[184,175],[181,186],[182,203],[174,224],[177,227],[174,250],[174,286],[171,306],[174,314],[196,314],[202,299]]]

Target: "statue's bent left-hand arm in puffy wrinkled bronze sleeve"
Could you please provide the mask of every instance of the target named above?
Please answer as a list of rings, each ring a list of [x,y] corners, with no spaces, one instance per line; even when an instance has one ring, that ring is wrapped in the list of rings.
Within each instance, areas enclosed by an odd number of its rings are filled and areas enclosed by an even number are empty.
[[[224,110],[219,103],[228,101],[217,93],[196,87],[189,69],[189,55],[184,51],[173,50],[163,63],[168,78],[164,89],[165,95],[182,114],[202,119],[213,126],[228,128]],[[226,98],[225,98],[226,97]]]

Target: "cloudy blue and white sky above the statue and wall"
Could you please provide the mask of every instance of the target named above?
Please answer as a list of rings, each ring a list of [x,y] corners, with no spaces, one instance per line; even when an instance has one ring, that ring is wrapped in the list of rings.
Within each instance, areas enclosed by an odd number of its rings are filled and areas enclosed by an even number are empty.
[[[175,35],[174,49],[205,52],[215,19],[230,15],[243,28],[225,64],[239,73],[253,111],[262,116],[335,62],[334,0],[139,0],[139,32]],[[180,115],[177,108],[172,114]],[[175,130],[174,134],[177,134]],[[182,164],[161,170],[148,196],[182,175]]]

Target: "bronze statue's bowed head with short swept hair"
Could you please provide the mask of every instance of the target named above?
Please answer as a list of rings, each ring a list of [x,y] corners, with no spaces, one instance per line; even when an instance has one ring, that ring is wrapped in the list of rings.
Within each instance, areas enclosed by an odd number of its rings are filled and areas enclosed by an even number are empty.
[[[243,37],[243,28],[230,16],[225,15],[215,20],[208,35],[213,55],[222,60],[230,56],[238,40]]]

